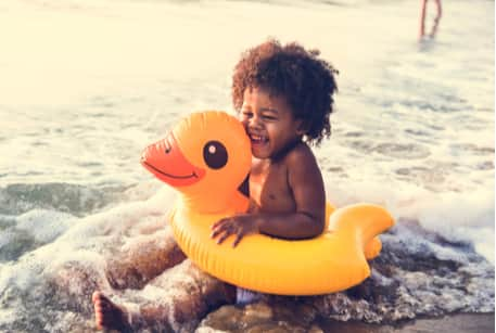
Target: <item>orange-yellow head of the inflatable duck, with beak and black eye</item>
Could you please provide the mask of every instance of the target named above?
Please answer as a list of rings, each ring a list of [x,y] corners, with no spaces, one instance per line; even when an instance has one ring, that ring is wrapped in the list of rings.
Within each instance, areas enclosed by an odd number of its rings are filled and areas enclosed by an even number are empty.
[[[149,145],[141,164],[181,192],[189,204],[212,210],[245,179],[251,165],[250,139],[241,123],[225,112],[193,113],[165,139]]]

